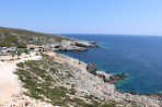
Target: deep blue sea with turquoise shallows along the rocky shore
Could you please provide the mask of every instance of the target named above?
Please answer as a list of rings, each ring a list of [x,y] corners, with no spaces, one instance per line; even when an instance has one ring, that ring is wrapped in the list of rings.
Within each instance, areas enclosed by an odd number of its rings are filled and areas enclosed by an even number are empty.
[[[115,84],[120,92],[140,94],[162,91],[162,37],[125,35],[63,35],[96,41],[101,48],[82,52],[61,52],[97,64],[107,73],[127,73]]]

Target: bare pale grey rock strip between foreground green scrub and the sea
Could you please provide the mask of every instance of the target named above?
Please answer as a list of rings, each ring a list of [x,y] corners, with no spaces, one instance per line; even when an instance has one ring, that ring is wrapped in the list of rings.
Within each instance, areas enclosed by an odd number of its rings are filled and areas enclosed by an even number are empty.
[[[59,56],[59,57],[56,57]],[[147,95],[132,95],[130,93],[119,93],[115,90],[113,84],[104,82],[103,79],[95,76],[88,72],[88,63],[79,61],[63,55],[56,55],[55,60],[58,62],[67,64],[71,68],[69,71],[73,78],[67,79],[66,81],[60,81],[58,85],[62,85],[69,88],[70,85],[74,85],[76,96],[93,95],[101,100],[116,100],[123,103],[124,105],[136,105],[141,107],[161,107],[162,100],[158,96],[147,96]],[[95,70],[95,69],[94,69]],[[112,76],[112,74],[109,74]],[[118,76],[118,75],[115,75]],[[126,76],[121,74],[119,76]],[[109,78],[111,79],[111,78]],[[118,78],[117,78],[118,79]],[[124,106],[125,107],[125,106]]]

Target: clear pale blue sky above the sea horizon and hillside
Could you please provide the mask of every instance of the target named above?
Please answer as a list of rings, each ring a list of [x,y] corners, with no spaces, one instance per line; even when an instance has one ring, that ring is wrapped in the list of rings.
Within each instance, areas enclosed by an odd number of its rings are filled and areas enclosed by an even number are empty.
[[[162,35],[162,0],[1,0],[0,26],[55,34]]]

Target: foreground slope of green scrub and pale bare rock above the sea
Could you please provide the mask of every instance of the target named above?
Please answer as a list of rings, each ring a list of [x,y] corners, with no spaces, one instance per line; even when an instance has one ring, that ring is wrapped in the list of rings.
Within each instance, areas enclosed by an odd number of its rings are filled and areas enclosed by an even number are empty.
[[[16,74],[31,97],[59,106],[162,106],[157,97],[117,92],[113,84],[89,73],[82,61],[55,52],[48,55],[39,61],[18,64]]]

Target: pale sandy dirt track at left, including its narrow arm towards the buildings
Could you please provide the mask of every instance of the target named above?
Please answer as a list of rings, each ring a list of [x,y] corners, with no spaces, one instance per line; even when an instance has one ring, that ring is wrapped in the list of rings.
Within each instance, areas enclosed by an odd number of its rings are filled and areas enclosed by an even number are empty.
[[[38,60],[40,56],[22,56],[16,61],[0,61],[0,104],[7,103],[12,99],[12,96],[21,93],[21,85],[18,76],[13,73],[16,69],[16,63],[24,60]]]

